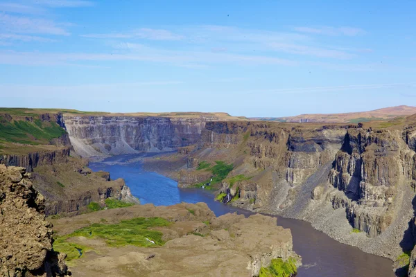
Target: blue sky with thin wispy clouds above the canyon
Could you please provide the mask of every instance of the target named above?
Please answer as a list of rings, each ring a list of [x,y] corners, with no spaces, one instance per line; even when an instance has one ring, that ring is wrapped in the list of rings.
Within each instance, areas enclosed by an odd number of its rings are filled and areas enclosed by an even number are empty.
[[[416,1],[0,1],[0,106],[416,105]]]

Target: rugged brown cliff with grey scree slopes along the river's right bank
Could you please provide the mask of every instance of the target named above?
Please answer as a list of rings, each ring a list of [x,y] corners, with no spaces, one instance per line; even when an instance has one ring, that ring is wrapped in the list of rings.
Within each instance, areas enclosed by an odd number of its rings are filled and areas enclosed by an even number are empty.
[[[193,161],[233,163],[220,185],[230,204],[307,220],[337,240],[394,260],[413,246],[406,229],[416,188],[415,137],[413,123],[207,123],[180,181],[199,180],[203,170]],[[230,184],[236,175],[243,177]]]

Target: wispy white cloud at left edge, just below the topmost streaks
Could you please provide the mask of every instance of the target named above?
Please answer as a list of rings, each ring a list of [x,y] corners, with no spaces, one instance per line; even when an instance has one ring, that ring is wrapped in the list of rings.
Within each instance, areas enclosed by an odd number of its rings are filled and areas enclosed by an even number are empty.
[[[5,13],[0,13],[0,28],[8,33],[69,35],[67,30],[54,21]]]

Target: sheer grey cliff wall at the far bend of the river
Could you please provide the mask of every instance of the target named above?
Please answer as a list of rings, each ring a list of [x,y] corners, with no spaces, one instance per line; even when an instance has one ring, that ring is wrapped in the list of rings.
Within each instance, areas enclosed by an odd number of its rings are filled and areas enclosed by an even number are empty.
[[[64,116],[75,151],[83,157],[174,150],[196,143],[214,117]]]

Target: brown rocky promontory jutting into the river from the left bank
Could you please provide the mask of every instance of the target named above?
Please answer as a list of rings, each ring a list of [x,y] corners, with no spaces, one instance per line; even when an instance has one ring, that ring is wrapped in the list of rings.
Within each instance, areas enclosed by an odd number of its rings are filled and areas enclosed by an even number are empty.
[[[85,161],[75,158],[35,168],[33,186],[46,199],[46,215],[78,214],[91,202],[104,206],[109,197],[139,203],[123,179],[111,180],[108,172],[92,172]]]

